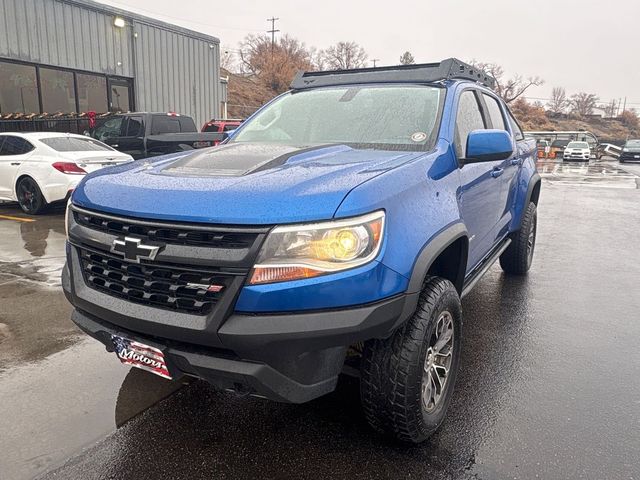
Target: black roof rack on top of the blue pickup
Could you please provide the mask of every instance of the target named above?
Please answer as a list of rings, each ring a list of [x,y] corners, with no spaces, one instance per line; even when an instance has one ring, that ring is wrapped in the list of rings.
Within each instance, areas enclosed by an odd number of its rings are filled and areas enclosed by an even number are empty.
[[[291,82],[291,88],[293,90],[303,90],[305,88],[353,85],[354,83],[425,83],[450,78],[472,80],[491,89],[495,88],[496,82],[491,75],[461,62],[457,58],[448,58],[440,63],[323,72],[298,72],[293,82]]]

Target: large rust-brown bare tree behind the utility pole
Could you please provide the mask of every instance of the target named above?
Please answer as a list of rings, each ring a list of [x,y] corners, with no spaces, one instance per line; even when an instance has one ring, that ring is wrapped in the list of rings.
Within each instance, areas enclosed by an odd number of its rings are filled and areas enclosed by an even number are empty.
[[[275,93],[289,88],[299,70],[311,70],[311,52],[305,44],[289,35],[282,35],[271,48],[267,35],[247,35],[241,43],[242,73],[256,76]]]

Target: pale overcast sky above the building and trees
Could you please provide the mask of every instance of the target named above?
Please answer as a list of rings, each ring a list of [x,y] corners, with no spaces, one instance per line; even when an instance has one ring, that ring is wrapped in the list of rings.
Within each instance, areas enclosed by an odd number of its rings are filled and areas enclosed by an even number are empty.
[[[601,101],[627,97],[640,110],[640,0],[99,0],[208,33],[235,50],[249,33],[276,28],[325,48],[361,44],[378,65],[409,50],[417,62],[448,57],[501,64],[539,75],[542,87],[586,91]]]

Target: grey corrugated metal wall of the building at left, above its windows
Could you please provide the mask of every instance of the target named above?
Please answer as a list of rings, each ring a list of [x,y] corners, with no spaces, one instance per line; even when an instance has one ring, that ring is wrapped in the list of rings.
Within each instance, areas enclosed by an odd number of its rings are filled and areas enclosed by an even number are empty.
[[[113,25],[115,16],[127,25]],[[0,0],[0,58],[134,79],[137,110],[218,115],[220,46],[91,0]]]

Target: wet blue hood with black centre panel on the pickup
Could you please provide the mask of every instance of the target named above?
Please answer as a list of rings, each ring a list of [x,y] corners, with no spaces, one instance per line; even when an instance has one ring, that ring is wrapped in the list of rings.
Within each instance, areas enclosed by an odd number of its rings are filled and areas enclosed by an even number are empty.
[[[422,152],[231,143],[87,175],[75,205],[145,219],[268,225],[330,219],[361,183]]]

